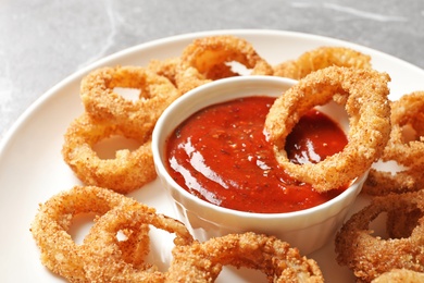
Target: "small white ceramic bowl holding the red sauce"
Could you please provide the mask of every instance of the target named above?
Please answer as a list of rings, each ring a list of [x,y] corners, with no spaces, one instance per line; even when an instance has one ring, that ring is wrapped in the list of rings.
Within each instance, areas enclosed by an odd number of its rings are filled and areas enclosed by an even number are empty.
[[[362,188],[366,174],[358,177],[344,193],[323,205],[296,212],[252,213],[222,208],[199,199],[180,187],[169,174],[165,144],[173,131],[195,112],[240,97],[278,97],[296,81],[274,76],[238,76],[197,87],[174,101],[159,119],[152,136],[155,170],[176,213],[199,241],[248,231],[275,235],[308,255],[323,247],[342,224]],[[337,121],[347,133],[346,111],[336,103],[320,110]]]

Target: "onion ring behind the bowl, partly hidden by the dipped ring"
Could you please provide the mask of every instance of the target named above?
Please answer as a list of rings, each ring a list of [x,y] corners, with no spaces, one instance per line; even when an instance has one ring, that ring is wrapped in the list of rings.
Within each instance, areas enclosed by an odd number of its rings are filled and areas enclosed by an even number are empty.
[[[274,66],[275,76],[300,79],[327,66],[371,69],[371,57],[346,47],[319,47]]]

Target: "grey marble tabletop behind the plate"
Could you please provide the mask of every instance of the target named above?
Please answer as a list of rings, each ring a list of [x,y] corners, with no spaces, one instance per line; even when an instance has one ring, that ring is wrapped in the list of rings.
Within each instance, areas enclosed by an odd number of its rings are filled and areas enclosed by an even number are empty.
[[[0,138],[46,90],[98,59],[158,38],[229,28],[334,37],[424,67],[422,0],[2,0]]]

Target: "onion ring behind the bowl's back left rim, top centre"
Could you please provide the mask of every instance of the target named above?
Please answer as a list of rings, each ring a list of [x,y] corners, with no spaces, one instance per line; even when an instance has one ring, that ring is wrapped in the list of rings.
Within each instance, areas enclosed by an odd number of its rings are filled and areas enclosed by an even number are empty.
[[[176,73],[178,89],[185,94],[202,84],[237,76],[234,64],[241,64],[252,75],[272,75],[272,66],[253,46],[235,36],[211,36],[195,39],[180,56]],[[242,70],[246,71],[246,70]]]

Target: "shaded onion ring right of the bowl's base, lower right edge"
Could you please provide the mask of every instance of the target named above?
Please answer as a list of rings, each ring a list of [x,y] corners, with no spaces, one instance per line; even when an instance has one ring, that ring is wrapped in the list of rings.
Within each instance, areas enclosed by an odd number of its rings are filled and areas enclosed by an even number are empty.
[[[410,236],[383,239],[373,236],[370,223],[384,212],[424,211],[424,190],[374,197],[372,202],[353,214],[336,235],[337,261],[354,275],[370,282],[392,269],[424,272],[424,218]]]

